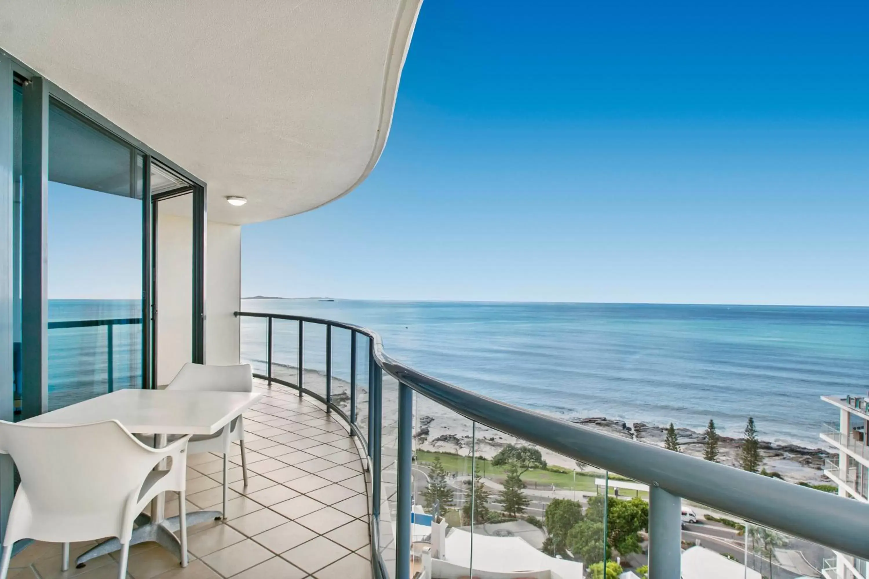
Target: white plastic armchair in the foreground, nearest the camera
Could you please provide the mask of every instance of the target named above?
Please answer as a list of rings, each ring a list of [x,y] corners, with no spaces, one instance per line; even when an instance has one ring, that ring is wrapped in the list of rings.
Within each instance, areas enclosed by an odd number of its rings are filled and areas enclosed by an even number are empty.
[[[12,546],[19,539],[63,543],[66,570],[70,543],[105,536],[121,542],[118,577],[124,579],[133,522],[166,490],[178,493],[181,564],[186,567],[188,439],[152,449],[117,420],[76,426],[0,421],[0,452],[11,455],[21,475],[3,537],[0,579],[6,579]],[[171,458],[169,469],[154,470],[164,458]]]

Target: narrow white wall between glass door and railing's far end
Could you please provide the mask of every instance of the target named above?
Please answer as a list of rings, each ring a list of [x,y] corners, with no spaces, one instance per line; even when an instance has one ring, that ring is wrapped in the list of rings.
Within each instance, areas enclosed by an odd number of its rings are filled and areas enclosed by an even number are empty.
[[[205,260],[205,362],[238,364],[242,227],[209,221]]]

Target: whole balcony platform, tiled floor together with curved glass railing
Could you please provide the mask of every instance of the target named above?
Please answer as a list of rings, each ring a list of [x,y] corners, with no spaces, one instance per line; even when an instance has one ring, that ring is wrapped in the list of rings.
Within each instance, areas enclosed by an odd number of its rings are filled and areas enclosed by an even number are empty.
[[[652,572],[663,577],[678,577],[682,563],[668,557],[667,549],[679,553],[698,542],[713,551],[702,556],[722,568],[741,565],[746,542],[733,518],[752,523],[751,573],[766,573],[769,557],[758,545],[770,536],[784,549],[774,564],[769,559],[775,573],[800,570],[793,562],[802,558],[828,579],[839,579],[831,549],[837,555],[869,554],[855,538],[869,530],[869,507],[862,504],[463,391],[391,359],[378,335],[359,326],[237,315],[259,325],[259,338],[248,345],[262,356],[249,361],[264,397],[245,414],[249,469],[255,474],[243,488],[236,447],[226,521],[189,530],[186,569],[156,543],[137,546],[129,564],[134,579],[587,576],[605,552],[603,531],[588,527],[590,550],[552,556],[544,546],[550,533],[533,522],[545,518],[555,499],[580,505],[589,520],[601,503],[602,512],[632,498],[646,503],[648,525],[637,535],[639,549],[622,558],[634,569],[651,563]],[[250,340],[253,334],[244,335]],[[295,344],[294,359],[274,359],[275,340]],[[848,442],[835,431],[822,436]],[[525,464],[510,479],[516,463],[494,455],[511,447],[539,451],[541,464]],[[219,505],[221,462],[210,454],[190,457],[189,510]],[[591,471],[574,469],[577,462]],[[827,461],[825,472],[853,490],[856,469],[842,478],[839,464]],[[525,500],[511,506],[507,487],[517,478]],[[434,480],[442,483],[437,496]],[[682,524],[684,505],[696,511],[698,523]],[[176,514],[177,505],[169,503],[167,510]],[[851,531],[836,531],[843,528]],[[75,544],[72,555],[90,546]],[[807,561],[805,554],[826,558]],[[113,557],[57,575],[60,546],[31,543],[13,558],[12,569],[17,577],[115,576]]]

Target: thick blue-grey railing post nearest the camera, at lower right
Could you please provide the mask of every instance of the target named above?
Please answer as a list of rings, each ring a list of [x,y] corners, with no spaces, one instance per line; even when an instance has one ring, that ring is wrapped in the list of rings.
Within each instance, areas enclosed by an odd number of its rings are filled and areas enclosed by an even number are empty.
[[[682,549],[682,500],[649,487],[649,576],[680,579]]]

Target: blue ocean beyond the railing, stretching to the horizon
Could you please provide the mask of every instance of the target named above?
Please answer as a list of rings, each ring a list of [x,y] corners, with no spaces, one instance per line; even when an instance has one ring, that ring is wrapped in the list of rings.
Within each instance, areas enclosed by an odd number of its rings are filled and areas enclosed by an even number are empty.
[[[244,299],[252,312],[336,319],[380,332],[387,352],[493,398],[572,417],[607,417],[817,447],[838,418],[823,394],[866,394],[869,308]],[[306,367],[325,368],[321,328]],[[335,373],[348,373],[335,333]],[[275,322],[275,362],[295,365],[295,322]],[[344,352],[344,353],[342,353]],[[242,359],[262,365],[265,323],[242,319]]]

